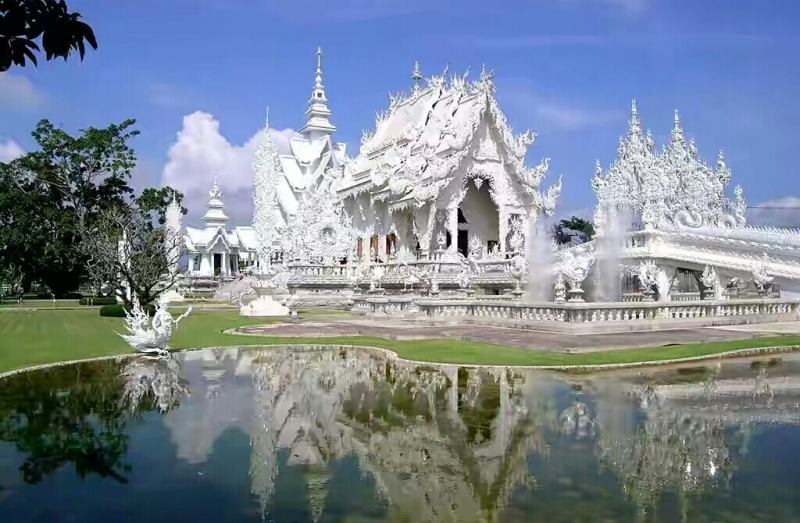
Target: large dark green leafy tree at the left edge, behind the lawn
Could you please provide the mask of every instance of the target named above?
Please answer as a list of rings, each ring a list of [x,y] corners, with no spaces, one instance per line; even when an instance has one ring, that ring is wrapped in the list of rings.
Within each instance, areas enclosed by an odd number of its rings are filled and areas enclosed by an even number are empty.
[[[42,120],[32,133],[39,149],[0,164],[0,267],[18,265],[26,288],[38,281],[62,296],[85,281],[84,230],[103,210],[128,205],[133,193],[134,123],[71,136]],[[155,202],[147,208],[158,212]]]

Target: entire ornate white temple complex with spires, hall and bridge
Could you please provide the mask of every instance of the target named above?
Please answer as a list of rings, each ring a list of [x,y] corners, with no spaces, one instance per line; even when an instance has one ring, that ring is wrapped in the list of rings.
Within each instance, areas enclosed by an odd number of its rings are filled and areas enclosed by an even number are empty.
[[[796,313],[780,293],[800,290],[800,231],[747,226],[724,155],[714,167],[703,161],[677,112],[657,150],[632,104],[616,159],[598,163],[592,180],[596,238],[557,246],[536,224],[553,213],[560,179],[543,190],[548,159],[525,165],[535,134],[513,133],[493,75],[423,80],[415,64],[411,80],[349,158],[333,137],[318,49],[304,127],[284,150],[270,133],[257,146],[253,228],[226,232],[213,188],[206,229],[188,230],[190,270],[271,267],[259,272],[280,273],[293,303],[384,316],[517,324]],[[587,312],[586,301],[609,305]]]

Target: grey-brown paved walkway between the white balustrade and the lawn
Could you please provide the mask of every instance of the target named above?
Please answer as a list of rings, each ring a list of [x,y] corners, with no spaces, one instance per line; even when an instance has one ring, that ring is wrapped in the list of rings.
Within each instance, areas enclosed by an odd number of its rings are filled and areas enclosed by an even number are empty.
[[[587,352],[617,348],[659,347],[682,343],[749,339],[787,334],[800,335],[800,322],[694,327],[613,334],[567,334],[507,327],[478,325],[430,326],[407,320],[322,316],[286,323],[241,327],[238,330],[243,333],[273,336],[378,336],[394,340],[452,338],[526,349]]]

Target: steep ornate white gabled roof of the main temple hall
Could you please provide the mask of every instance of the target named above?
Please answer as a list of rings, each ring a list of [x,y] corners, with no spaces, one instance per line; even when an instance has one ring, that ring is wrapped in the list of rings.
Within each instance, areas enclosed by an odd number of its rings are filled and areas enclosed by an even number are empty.
[[[484,121],[489,130],[481,126]],[[471,146],[476,140],[477,148]],[[547,171],[547,160],[534,168],[524,166],[533,140],[530,132],[513,134],[485,70],[474,82],[466,75],[449,81],[434,76],[424,87],[415,84],[410,92],[391,97],[374,132],[362,137],[360,154],[345,166],[339,194],[370,192],[390,203],[422,203],[436,197],[471,154],[479,164],[504,165],[532,196]]]

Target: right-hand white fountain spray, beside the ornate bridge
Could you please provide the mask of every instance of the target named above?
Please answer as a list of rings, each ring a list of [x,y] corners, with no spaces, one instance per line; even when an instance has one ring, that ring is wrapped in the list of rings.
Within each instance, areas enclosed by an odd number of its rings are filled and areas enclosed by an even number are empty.
[[[597,245],[595,301],[622,301],[619,269],[625,249],[626,233],[631,224],[631,212],[626,208],[612,207],[606,210],[604,222],[595,240]]]

